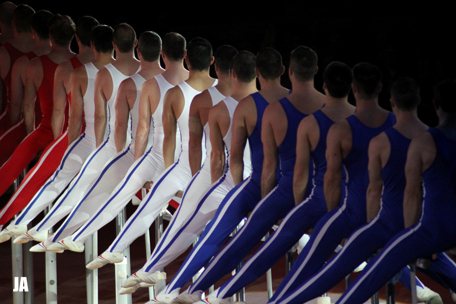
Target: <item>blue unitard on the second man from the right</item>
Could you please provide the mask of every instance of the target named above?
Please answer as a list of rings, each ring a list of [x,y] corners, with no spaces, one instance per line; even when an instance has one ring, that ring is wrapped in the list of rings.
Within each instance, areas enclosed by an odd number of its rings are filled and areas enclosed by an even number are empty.
[[[382,169],[384,189],[381,210],[371,222],[355,231],[344,248],[333,256],[320,271],[302,284],[277,299],[277,303],[305,303],[320,296],[355,269],[361,262],[367,260],[378,248],[382,248],[397,233],[404,229],[402,201],[405,188],[404,166],[410,139],[404,137],[394,128],[385,131],[390,142],[390,157]],[[443,255],[443,254],[439,254]],[[450,259],[439,256],[438,264],[451,266]],[[454,264],[454,263],[452,263]],[[434,267],[435,268],[435,267]],[[410,289],[410,271],[407,267],[402,270],[401,281]],[[419,281],[417,285],[423,287]]]

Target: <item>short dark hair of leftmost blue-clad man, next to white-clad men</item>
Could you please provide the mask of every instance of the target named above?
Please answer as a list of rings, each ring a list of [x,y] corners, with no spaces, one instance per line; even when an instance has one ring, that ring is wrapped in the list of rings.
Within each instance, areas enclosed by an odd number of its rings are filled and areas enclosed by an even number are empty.
[[[256,55],[256,68],[264,79],[274,80],[279,78],[283,71],[282,67],[282,56],[274,48],[262,48]]]

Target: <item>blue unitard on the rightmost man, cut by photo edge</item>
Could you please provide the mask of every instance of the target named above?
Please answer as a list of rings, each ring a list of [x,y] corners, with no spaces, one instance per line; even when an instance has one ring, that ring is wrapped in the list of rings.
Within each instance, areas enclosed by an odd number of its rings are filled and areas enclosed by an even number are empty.
[[[407,263],[417,257],[456,247],[456,141],[438,129],[428,131],[436,156],[423,172],[423,203],[419,221],[396,234],[372,258],[337,303],[363,303]]]

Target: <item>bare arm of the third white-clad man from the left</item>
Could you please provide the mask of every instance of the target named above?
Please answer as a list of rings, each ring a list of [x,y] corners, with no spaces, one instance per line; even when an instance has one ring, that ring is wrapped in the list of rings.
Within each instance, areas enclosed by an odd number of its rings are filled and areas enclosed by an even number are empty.
[[[133,82],[131,78],[124,80],[119,86],[116,101],[116,130],[114,132],[114,141],[119,153],[125,149],[127,143],[128,118],[130,117],[130,106],[128,104],[128,83]],[[135,90],[136,91],[136,90]],[[136,92],[135,92],[136,93]]]

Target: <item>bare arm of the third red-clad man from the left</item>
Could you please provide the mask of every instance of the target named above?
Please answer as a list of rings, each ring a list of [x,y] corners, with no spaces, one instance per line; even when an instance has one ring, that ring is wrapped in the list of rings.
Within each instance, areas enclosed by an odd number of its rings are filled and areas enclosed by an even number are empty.
[[[28,61],[26,56],[16,60],[11,73],[10,121],[12,126],[17,124],[22,117],[22,104],[24,102],[24,86]]]

